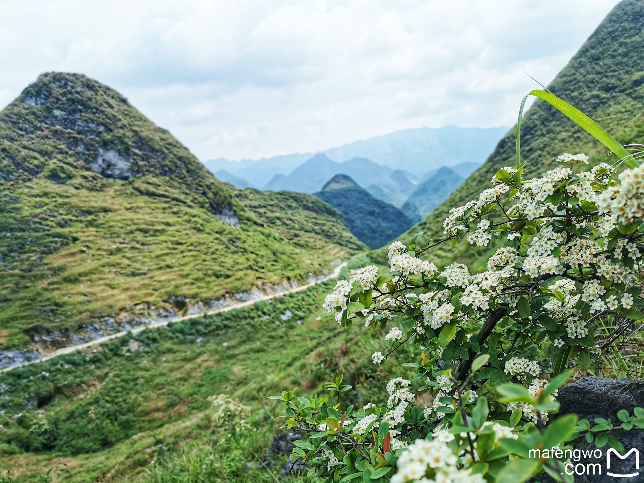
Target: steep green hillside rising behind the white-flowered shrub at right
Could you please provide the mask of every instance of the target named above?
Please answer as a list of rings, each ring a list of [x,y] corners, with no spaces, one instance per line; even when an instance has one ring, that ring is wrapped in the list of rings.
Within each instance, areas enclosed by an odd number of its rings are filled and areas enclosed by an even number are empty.
[[[548,86],[555,95],[596,120],[622,144],[644,141],[643,23],[644,0],[621,1]],[[517,105],[517,113],[518,108]],[[485,164],[399,239],[408,239],[419,231],[437,236],[451,207],[477,198],[480,191],[489,187],[489,180],[498,169],[514,166],[515,133],[516,129],[510,129]],[[521,146],[528,176],[537,176],[553,168],[556,157],[565,152],[585,153],[594,162],[611,159],[605,156],[605,147],[541,100],[537,100],[524,116]],[[449,263],[454,258],[471,261],[486,252],[470,249],[463,246],[454,254],[445,252],[439,256],[440,261]],[[383,259],[384,256],[385,250],[372,252],[373,258]]]

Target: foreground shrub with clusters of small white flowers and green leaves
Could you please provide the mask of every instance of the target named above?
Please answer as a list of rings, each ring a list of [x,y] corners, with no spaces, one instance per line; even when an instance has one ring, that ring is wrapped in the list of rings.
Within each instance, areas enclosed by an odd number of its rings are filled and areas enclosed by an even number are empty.
[[[439,240],[422,246],[419,233],[409,245],[393,242],[388,270],[372,265],[337,282],[324,303],[337,323],[386,334],[375,365],[404,344],[420,357],[405,364],[417,368],[412,380],[386,384],[388,401],[340,410],[294,392],[274,397],[287,406],[285,426],[309,435],[294,455],[314,466],[310,475],[520,483],[547,471],[569,481],[565,458],[531,459],[528,450],[565,450],[580,437],[621,448],[605,423],[591,428],[576,415],[550,421],[567,366],[588,370],[611,344],[594,338],[601,319],[623,333],[644,318],[644,167],[618,176],[619,162],[579,169],[587,163],[564,154],[532,179],[520,166],[500,169],[477,200],[450,210]],[[473,274],[460,263],[439,270],[420,258],[459,242],[498,247],[487,270]],[[415,404],[424,392],[431,403]],[[639,417],[622,421],[644,427]]]

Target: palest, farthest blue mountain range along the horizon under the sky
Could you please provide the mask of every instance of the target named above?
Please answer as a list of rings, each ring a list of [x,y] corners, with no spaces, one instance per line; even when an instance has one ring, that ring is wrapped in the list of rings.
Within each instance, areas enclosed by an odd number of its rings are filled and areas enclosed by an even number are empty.
[[[392,171],[401,169],[414,173],[413,176],[417,178],[422,178],[426,173],[441,166],[455,166],[464,162],[482,164],[507,129],[506,127],[481,129],[455,126],[437,129],[404,129],[345,144],[345,146],[332,147],[318,154],[325,154],[329,160],[337,163],[365,158],[377,165],[390,167]],[[267,184],[273,182],[275,175],[290,175],[294,169],[310,160],[315,154],[297,153],[241,161],[218,158],[206,161],[204,164],[212,173],[223,169],[231,175],[245,178],[250,185],[270,189]],[[334,174],[336,173],[332,173],[331,176]],[[322,176],[322,178],[321,184],[312,191],[308,191],[309,193],[319,190],[330,176]],[[360,180],[354,179],[358,184],[363,185]],[[276,183],[279,184],[279,178]]]

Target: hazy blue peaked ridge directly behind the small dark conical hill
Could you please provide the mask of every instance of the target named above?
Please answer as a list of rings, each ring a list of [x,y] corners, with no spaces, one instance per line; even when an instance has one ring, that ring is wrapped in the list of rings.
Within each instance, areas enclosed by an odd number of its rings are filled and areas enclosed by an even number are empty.
[[[275,175],[263,189],[315,193],[327,180],[339,173],[354,178],[361,186],[368,186],[379,182],[382,178],[388,178],[392,171],[388,166],[380,166],[365,158],[354,158],[337,163],[325,154],[317,154],[296,167],[289,175]]]

